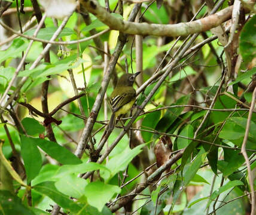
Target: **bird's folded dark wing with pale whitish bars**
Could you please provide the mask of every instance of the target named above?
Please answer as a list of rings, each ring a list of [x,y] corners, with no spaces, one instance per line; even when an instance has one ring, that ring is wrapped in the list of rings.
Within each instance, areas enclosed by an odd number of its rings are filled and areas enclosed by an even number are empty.
[[[122,93],[120,95],[111,97],[108,101],[112,112],[116,112],[122,106],[129,103],[132,99],[135,99],[136,91]]]

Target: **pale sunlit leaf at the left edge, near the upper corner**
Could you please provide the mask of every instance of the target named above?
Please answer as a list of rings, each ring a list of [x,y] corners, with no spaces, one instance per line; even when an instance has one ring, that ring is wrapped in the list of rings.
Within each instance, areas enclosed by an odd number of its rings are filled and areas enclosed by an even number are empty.
[[[13,40],[13,44],[5,50],[0,51],[0,63],[4,60],[8,59],[9,57],[22,57],[21,52],[24,51],[28,47],[28,42],[25,42],[23,39],[17,38]]]

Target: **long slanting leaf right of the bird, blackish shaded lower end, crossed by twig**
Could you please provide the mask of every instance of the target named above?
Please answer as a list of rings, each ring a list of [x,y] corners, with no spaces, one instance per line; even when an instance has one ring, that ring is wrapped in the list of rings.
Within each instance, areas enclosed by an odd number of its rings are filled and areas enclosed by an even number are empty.
[[[173,105],[185,105],[187,104],[188,100],[190,99],[190,95],[182,96],[178,101]],[[163,118],[160,119],[156,126],[156,130],[159,132],[165,132],[170,125],[179,117],[182,110],[184,108],[168,108],[166,113],[164,113]]]

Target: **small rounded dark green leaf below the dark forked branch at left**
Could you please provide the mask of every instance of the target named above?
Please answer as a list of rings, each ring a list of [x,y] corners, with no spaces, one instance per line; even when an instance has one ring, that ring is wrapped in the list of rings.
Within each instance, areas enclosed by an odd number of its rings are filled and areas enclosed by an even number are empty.
[[[39,124],[36,119],[26,117],[22,119],[22,125],[29,135],[44,133],[44,126]]]

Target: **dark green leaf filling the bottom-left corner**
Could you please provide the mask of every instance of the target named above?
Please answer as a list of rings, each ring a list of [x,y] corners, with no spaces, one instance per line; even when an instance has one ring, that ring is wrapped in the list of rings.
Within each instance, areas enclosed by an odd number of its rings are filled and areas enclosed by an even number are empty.
[[[9,191],[0,191],[0,214],[1,215],[35,215],[33,211],[22,204],[22,200]]]

